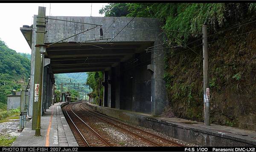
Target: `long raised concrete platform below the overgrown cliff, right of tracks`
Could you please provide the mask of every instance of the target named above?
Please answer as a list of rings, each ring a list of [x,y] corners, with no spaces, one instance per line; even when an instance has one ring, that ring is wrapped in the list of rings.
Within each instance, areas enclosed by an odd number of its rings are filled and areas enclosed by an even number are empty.
[[[100,107],[86,102],[91,109],[122,121],[148,127],[199,146],[256,146],[256,132],[234,127],[211,124],[181,118],[157,118],[144,113]]]

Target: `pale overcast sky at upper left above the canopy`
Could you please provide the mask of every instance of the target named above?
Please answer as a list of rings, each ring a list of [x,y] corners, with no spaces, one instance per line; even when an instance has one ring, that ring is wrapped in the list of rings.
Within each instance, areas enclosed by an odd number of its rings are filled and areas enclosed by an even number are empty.
[[[38,6],[46,7],[47,16],[50,13],[51,16],[88,17],[91,14],[91,4],[92,16],[103,17],[99,10],[108,3],[1,3],[0,39],[17,52],[31,53],[20,27],[32,25],[33,15],[38,14]]]

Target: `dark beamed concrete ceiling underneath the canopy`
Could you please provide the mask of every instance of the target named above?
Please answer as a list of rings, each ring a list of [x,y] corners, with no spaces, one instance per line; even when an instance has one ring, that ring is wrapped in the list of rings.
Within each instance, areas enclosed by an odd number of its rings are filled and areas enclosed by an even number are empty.
[[[47,48],[45,58],[51,59],[52,73],[104,71],[132,58],[135,53],[142,53],[152,43],[58,43]]]

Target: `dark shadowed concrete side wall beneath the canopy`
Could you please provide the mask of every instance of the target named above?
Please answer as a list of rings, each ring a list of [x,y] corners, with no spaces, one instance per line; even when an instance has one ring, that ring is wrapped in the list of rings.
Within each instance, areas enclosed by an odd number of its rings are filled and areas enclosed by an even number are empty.
[[[108,71],[108,107],[151,113],[152,73],[147,70],[150,60],[150,53],[136,54]]]

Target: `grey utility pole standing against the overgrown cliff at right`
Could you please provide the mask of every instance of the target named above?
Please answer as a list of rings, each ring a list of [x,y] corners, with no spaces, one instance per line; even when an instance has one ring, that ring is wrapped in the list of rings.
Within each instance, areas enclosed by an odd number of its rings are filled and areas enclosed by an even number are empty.
[[[210,126],[209,105],[210,105],[210,90],[208,76],[208,40],[207,26],[203,25],[203,57],[204,57],[204,125]]]

